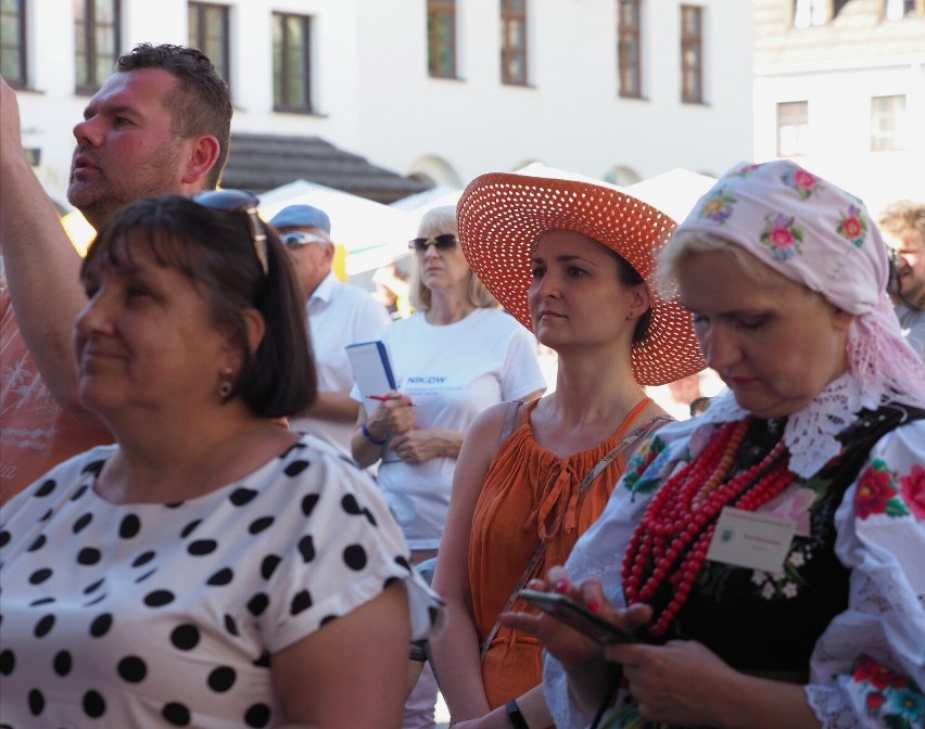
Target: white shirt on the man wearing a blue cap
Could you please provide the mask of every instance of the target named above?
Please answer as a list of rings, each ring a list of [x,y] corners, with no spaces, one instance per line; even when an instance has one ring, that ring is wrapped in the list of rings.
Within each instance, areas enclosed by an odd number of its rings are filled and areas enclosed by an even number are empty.
[[[379,330],[391,321],[389,312],[368,292],[338,281],[333,271],[315,289],[306,310],[318,370],[318,392],[350,392],[353,372],[344,347],[377,338]],[[356,421],[291,418],[290,427],[311,433],[350,456]]]

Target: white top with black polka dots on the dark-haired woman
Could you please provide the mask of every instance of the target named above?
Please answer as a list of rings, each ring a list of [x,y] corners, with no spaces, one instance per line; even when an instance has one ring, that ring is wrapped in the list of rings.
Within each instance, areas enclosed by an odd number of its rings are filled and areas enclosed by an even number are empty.
[[[438,618],[376,485],[312,436],[175,504],[98,497],[115,448],[2,510],[0,725],[275,727],[271,654],[395,578],[416,637]]]

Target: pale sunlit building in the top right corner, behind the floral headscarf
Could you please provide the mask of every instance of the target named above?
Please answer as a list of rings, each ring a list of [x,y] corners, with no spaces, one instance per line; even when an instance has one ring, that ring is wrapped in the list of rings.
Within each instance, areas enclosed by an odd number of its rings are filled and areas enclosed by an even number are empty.
[[[925,0],[756,0],[755,156],[925,201]]]

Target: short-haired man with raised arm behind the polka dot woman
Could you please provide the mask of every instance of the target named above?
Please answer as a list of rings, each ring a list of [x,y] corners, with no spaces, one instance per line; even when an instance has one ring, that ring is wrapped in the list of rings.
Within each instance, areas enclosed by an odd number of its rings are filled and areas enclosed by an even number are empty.
[[[228,87],[195,49],[144,43],[90,99],[67,197],[94,227],[123,205],[214,188],[228,155]],[[80,258],[22,149],[0,79],[0,501],[74,453],[110,442],[80,407],[71,333],[86,303]],[[15,311],[14,311],[15,310]]]

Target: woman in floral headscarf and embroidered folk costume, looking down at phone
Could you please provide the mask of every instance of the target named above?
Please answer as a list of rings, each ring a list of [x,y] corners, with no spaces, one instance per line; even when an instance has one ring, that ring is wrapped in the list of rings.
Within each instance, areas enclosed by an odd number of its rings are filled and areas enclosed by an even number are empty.
[[[660,272],[730,393],[659,431],[531,584],[643,640],[505,617],[552,654],[556,726],[924,726],[925,369],[863,204],[790,162],[738,167]]]

